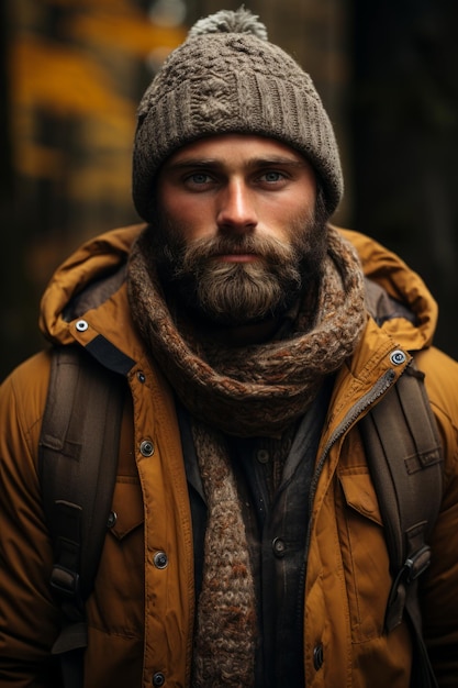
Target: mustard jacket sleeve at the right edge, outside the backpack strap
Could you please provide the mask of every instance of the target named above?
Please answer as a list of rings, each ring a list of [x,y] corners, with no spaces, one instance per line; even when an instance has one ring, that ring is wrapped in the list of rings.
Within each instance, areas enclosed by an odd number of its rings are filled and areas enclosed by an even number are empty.
[[[421,590],[423,625],[438,685],[451,688],[458,676],[458,365],[437,349],[425,352],[420,365],[444,446],[444,496]]]

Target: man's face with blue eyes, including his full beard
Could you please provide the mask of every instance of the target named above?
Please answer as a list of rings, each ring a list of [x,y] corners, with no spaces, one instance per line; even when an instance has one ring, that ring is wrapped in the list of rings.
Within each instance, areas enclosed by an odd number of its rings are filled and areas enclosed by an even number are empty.
[[[159,173],[157,202],[163,282],[214,323],[277,318],[320,274],[315,176],[278,141],[224,134],[180,148]]]

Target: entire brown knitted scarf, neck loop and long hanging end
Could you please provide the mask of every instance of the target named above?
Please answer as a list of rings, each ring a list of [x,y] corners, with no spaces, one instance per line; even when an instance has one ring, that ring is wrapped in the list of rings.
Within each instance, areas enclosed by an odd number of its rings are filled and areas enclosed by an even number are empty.
[[[129,265],[133,318],[192,419],[208,501],[198,603],[196,688],[254,686],[256,600],[242,507],[224,434],[280,436],[303,415],[326,375],[349,356],[366,323],[362,271],[351,245],[328,229],[314,312],[304,300],[289,339],[217,347],[172,314],[157,279],[148,231]]]

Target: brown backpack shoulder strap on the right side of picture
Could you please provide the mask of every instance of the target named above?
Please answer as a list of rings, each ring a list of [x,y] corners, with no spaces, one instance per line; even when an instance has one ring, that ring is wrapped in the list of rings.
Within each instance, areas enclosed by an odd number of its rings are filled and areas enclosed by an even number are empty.
[[[412,685],[436,686],[422,635],[417,585],[429,565],[428,540],[440,508],[443,450],[424,374],[414,362],[362,419],[360,430],[379,498],[393,577],[386,631],[392,631],[406,612],[417,648]]]

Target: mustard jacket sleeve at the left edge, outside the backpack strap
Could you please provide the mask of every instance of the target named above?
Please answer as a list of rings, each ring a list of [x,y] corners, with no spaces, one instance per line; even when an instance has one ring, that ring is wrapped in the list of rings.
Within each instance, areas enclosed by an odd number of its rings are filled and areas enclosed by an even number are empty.
[[[0,387],[0,685],[59,686],[51,647],[59,612],[37,477],[49,360],[25,362]]]

